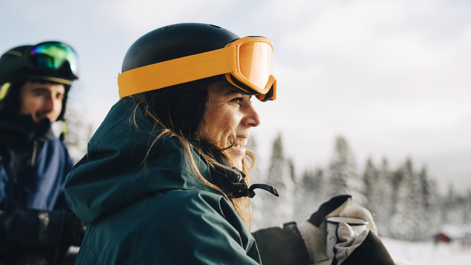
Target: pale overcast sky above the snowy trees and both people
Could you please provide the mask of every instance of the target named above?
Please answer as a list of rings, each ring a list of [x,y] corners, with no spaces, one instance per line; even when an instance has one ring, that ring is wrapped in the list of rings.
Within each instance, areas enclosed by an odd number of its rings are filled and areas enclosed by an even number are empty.
[[[343,135],[360,172],[368,157],[391,167],[412,157],[442,191],[471,188],[470,1],[0,0],[0,10],[0,52],[46,40],[74,47],[81,78],[70,102],[96,127],[119,99],[135,40],[208,23],[274,44],[277,100],[254,103],[262,165],[277,132],[298,169],[327,166]]]

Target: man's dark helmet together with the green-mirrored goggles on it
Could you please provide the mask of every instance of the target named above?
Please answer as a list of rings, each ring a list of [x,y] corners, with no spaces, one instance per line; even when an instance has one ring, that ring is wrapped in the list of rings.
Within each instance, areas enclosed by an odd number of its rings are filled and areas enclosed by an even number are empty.
[[[5,52],[0,57],[0,116],[16,115],[20,89],[27,79],[64,84],[62,111],[57,118],[62,120],[67,93],[78,79],[75,51],[62,42],[47,41]]]

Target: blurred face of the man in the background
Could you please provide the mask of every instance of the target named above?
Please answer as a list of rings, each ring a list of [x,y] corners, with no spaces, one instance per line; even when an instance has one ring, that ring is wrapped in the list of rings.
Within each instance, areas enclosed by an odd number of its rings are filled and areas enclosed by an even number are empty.
[[[55,122],[62,111],[65,87],[57,83],[38,83],[30,80],[21,88],[20,115],[31,115],[35,123],[48,118]]]

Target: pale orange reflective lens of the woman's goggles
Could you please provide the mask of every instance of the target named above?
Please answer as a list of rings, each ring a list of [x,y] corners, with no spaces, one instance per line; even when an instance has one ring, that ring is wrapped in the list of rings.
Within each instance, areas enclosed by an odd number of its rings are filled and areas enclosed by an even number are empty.
[[[273,75],[273,49],[265,42],[244,43],[239,48],[239,65],[242,75],[260,89]]]

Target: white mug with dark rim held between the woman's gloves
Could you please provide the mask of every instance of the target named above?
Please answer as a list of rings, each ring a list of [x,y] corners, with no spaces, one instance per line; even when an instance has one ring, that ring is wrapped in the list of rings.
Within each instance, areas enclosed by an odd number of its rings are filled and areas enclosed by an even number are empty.
[[[354,217],[343,217],[343,216],[333,216],[325,219],[327,222],[327,251],[326,255],[329,258],[333,258],[333,248],[337,243],[337,228],[341,222],[347,223],[353,229],[355,236],[359,235],[366,229],[368,221],[360,218]]]

